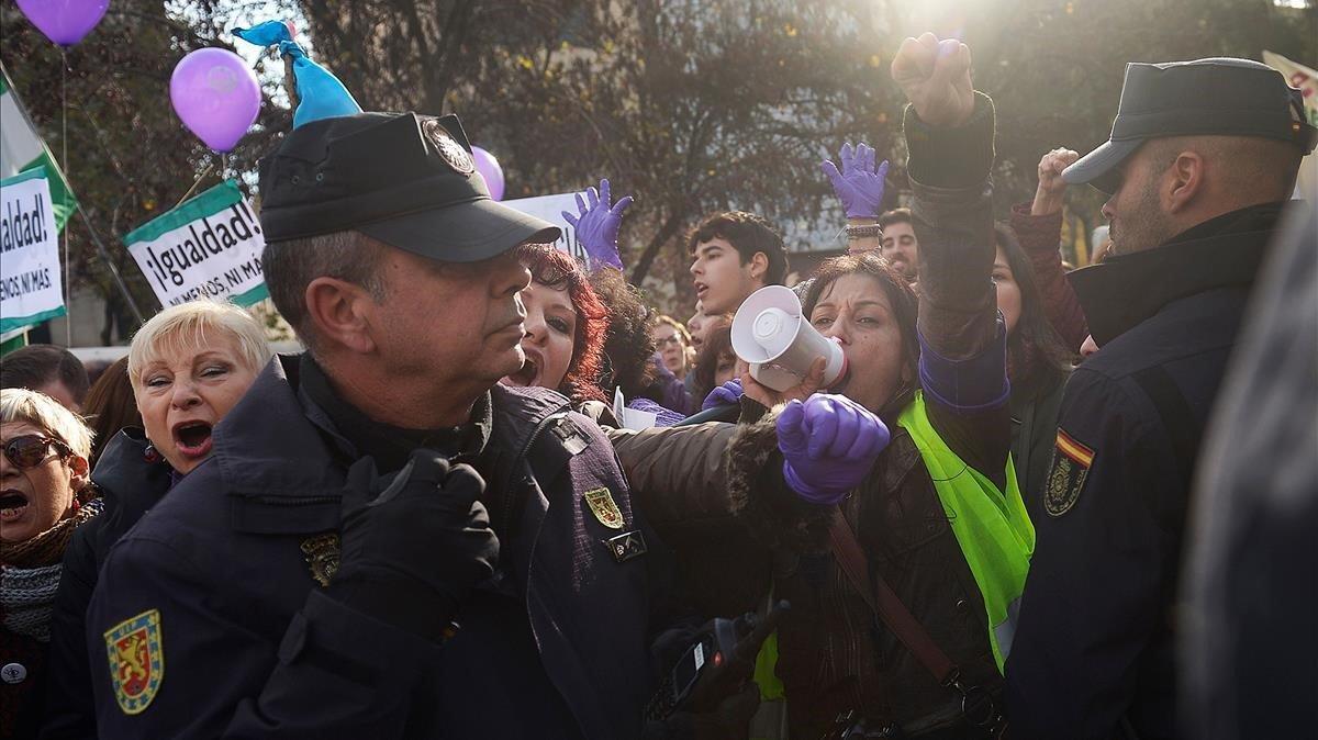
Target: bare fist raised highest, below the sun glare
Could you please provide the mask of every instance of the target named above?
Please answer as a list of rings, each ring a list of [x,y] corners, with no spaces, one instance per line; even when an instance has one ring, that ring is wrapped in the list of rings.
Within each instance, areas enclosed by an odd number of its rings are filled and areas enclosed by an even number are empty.
[[[908,37],[892,59],[892,80],[931,126],[960,126],[975,111],[970,47],[956,38]]]

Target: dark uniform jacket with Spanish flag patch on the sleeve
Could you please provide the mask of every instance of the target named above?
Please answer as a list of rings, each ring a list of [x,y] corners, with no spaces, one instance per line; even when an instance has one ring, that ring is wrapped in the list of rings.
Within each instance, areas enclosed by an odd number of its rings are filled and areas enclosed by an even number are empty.
[[[1074,274],[1102,349],[1066,384],[1035,520],[1006,666],[1014,737],[1177,736],[1172,606],[1190,483],[1280,211],[1227,213]]]

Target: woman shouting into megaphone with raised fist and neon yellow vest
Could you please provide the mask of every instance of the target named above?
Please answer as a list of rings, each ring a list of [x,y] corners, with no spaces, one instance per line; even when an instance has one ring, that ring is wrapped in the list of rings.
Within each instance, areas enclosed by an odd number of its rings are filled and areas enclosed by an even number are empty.
[[[616,440],[679,550],[701,527],[754,542],[699,578],[791,600],[758,673],[763,697],[786,698],[791,737],[1000,735],[1033,550],[991,280],[992,101],[971,88],[969,49],[933,34],[907,40],[892,74],[911,100],[919,296],[876,254],[825,262],[801,320],[845,354],[826,392],[824,357],[787,390],[747,371],[735,427]]]

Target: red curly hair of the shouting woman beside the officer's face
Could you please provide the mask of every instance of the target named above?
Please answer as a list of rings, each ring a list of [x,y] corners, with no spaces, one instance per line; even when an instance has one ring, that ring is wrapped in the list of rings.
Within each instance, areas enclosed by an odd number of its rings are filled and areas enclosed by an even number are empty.
[[[558,390],[576,403],[606,400],[600,390],[605,333],[609,309],[600,302],[585,271],[575,259],[552,245],[532,244],[518,249],[518,259],[542,286],[567,291],[577,312],[576,336],[572,337],[572,361]]]

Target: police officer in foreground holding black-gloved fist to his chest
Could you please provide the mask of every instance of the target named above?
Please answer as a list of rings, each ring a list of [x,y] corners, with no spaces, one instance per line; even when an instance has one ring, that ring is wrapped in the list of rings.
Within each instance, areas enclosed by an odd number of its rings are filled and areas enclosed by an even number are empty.
[[[513,249],[457,119],[299,124],[262,162],[277,357],[111,550],[103,737],[635,737],[656,541],[523,362]],[[186,419],[186,408],[178,410]]]

